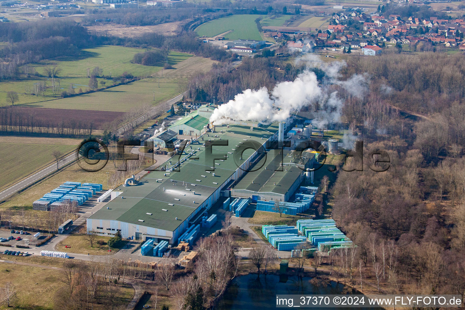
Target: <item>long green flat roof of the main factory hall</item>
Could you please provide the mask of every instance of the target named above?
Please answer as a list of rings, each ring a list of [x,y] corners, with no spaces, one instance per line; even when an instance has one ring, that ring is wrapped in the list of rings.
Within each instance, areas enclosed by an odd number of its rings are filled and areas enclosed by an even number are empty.
[[[216,126],[216,132],[202,135],[192,145],[186,146],[183,154],[175,155],[163,163],[167,171],[151,171],[140,179],[138,185],[118,186],[115,191],[123,193],[106,204],[109,209],[102,208],[89,218],[174,231],[255,152],[246,149],[246,141],[257,146],[263,145],[277,130],[277,124],[255,127],[253,130],[250,130],[250,126],[242,125]],[[209,139],[215,142],[220,138],[227,141],[228,145],[212,145],[212,153],[223,158],[213,162],[207,158],[203,144],[208,143]],[[169,171],[190,153],[198,159],[187,159],[180,165],[179,171]],[[170,161],[172,164],[169,164]]]

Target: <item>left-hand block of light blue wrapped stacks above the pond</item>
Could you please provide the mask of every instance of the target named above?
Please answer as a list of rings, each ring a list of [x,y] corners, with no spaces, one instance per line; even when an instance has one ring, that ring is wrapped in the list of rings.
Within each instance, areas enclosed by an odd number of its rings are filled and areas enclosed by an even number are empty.
[[[263,225],[262,233],[270,244],[280,251],[294,250],[307,242],[306,237],[299,236],[295,226]]]

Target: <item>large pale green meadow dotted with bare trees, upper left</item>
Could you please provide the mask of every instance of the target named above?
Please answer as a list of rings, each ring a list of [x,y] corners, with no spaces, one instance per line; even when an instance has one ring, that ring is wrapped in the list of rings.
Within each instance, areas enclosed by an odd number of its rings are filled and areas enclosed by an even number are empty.
[[[143,52],[143,49],[123,47],[123,46],[99,46],[81,51],[79,56],[76,57],[57,57],[51,60],[43,60],[39,63],[28,65],[33,67],[37,73],[46,76],[44,71],[45,66],[56,64],[61,69],[59,78],[56,79],[56,84],[59,84],[57,93],[52,92],[52,79],[46,77],[30,77],[22,74],[20,80],[17,81],[4,81],[0,82],[0,106],[6,105],[6,93],[15,91],[20,95],[18,104],[35,103],[46,100],[60,98],[60,93],[67,91],[70,84],[73,84],[75,91],[82,89],[86,91],[88,88],[89,78],[87,77],[87,68],[92,70],[95,66],[103,69],[105,76],[121,76],[125,71],[132,73],[135,76],[147,77],[153,73],[161,70],[161,66],[142,66],[139,64],[131,63],[134,54]],[[183,60],[190,58],[192,55],[186,53],[170,52],[168,56],[168,63],[175,65]],[[23,72],[24,67],[20,68]],[[105,81],[106,86],[113,85],[111,79],[97,79]],[[26,89],[33,88],[38,82],[45,81],[47,88],[45,92],[40,95],[27,95]],[[74,107],[79,109],[80,107]]]

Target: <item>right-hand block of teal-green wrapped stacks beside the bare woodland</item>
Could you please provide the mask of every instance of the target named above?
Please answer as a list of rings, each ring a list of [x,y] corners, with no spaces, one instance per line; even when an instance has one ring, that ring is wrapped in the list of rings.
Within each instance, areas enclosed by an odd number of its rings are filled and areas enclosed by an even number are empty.
[[[330,252],[332,249],[354,246],[353,242],[336,227],[332,219],[298,220],[297,228],[305,235],[318,251]]]

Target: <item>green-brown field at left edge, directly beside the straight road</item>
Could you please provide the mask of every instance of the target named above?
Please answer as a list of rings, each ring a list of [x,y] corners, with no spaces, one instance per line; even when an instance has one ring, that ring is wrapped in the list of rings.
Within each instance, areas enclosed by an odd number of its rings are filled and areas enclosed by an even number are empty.
[[[52,162],[54,160],[53,151],[58,150],[67,153],[73,151],[77,145],[60,145],[58,143],[59,141],[57,141],[57,144],[0,142],[2,171],[8,171],[8,173],[3,173],[0,178],[0,188]]]

